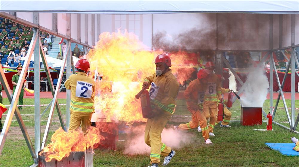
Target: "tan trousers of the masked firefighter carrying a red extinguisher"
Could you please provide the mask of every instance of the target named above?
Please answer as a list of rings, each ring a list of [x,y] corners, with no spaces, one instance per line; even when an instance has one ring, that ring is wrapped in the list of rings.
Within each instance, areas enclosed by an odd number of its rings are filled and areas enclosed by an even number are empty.
[[[147,119],[145,127],[144,141],[150,146],[151,163],[159,163],[160,155],[168,156],[171,148],[161,143],[161,133],[171,118],[171,114],[166,111],[161,111],[154,118]]]

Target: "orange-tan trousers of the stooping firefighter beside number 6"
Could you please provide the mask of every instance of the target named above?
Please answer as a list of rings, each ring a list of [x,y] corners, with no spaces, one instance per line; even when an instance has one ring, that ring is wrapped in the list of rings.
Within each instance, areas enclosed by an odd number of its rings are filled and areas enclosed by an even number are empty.
[[[197,128],[199,125],[202,129],[202,137],[207,140],[209,138],[209,131],[208,131],[208,123],[205,116],[205,113],[203,110],[193,110],[191,107],[187,104],[187,109],[192,113],[192,120],[188,122],[187,124],[180,124],[179,129],[193,129]]]

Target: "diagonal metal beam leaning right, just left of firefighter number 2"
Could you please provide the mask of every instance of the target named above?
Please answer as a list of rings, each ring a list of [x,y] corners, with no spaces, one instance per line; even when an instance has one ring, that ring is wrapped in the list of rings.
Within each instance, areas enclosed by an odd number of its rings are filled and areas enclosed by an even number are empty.
[[[71,41],[67,40],[67,50],[66,50],[66,53],[68,53],[70,49],[71,49]],[[59,89],[60,89],[60,85],[61,85],[61,81],[62,81],[62,76],[63,76],[63,71],[64,71],[64,68],[65,68],[65,64],[66,64],[66,61],[68,59],[68,56],[69,56],[69,54],[66,54],[66,57],[63,60],[63,65],[61,66],[61,69],[60,69],[60,74],[59,74],[59,77],[58,77],[58,82],[57,82],[57,86],[56,86],[56,89],[55,89],[55,93],[54,93],[54,97],[53,97],[53,102],[52,102],[51,110],[50,110],[50,113],[49,113],[49,117],[48,117],[46,129],[45,129],[44,137],[42,139],[42,147],[44,147],[46,145],[46,142],[47,142],[47,139],[48,139],[48,134],[49,134],[49,131],[50,131],[50,126],[51,126],[51,122],[52,122],[52,118],[53,118],[53,114],[54,114],[54,106],[55,106],[55,104],[57,106],[57,96],[58,96],[58,92],[59,92]],[[53,84],[52,84],[52,86],[53,86]],[[61,116],[61,112],[59,112],[58,115]],[[61,116],[61,119],[60,119],[60,123],[63,125],[62,128],[65,131],[67,131],[67,129],[66,129],[65,125],[64,125],[64,122],[62,120],[62,116]]]

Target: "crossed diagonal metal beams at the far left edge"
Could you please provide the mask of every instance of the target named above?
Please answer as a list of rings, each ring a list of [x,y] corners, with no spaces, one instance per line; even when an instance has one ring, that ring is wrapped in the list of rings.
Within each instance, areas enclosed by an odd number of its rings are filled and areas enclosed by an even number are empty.
[[[1,142],[0,154],[2,153],[3,146],[4,146],[4,143],[5,143],[6,137],[7,137],[8,129],[9,129],[9,127],[11,125],[11,121],[13,119],[13,113],[15,113],[16,118],[18,120],[18,123],[20,125],[20,128],[23,132],[25,141],[26,141],[27,146],[29,148],[29,151],[31,153],[31,156],[32,156],[32,158],[35,162],[37,162],[37,155],[35,153],[35,150],[33,149],[32,142],[31,142],[30,137],[28,135],[25,124],[22,120],[22,116],[21,116],[18,108],[16,107],[16,105],[17,105],[21,90],[22,90],[23,85],[24,85],[24,79],[25,79],[25,76],[26,76],[26,73],[27,73],[27,70],[28,70],[28,66],[29,66],[29,63],[30,63],[30,58],[31,58],[32,53],[33,53],[33,48],[34,48],[35,43],[38,39],[39,39],[39,37],[38,37],[37,29],[33,29],[33,38],[31,40],[32,45],[29,46],[29,49],[28,49],[29,54],[28,54],[27,57],[25,57],[24,67],[22,68],[22,72],[20,74],[20,78],[19,78],[19,81],[16,85],[15,93],[13,95],[10,94],[11,90],[9,88],[9,85],[8,85],[8,82],[5,78],[5,75],[3,73],[2,67],[0,67],[0,74],[1,74],[1,79],[0,80],[4,85],[4,89],[6,91],[8,99],[10,101],[10,107],[9,107],[8,112],[7,112],[7,117],[6,117],[4,125],[3,125],[3,130],[0,134],[0,142]]]

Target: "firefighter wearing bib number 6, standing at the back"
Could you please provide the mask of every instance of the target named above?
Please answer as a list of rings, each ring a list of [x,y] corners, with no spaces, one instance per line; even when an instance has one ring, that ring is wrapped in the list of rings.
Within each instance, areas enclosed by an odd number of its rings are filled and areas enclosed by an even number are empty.
[[[206,69],[213,72],[215,65],[213,62],[206,63]],[[203,104],[203,112],[205,113],[206,119],[210,119],[209,122],[209,135],[215,136],[213,133],[213,129],[216,123],[216,114],[218,110],[218,102],[222,101],[221,96],[221,80],[216,74],[210,74],[207,77],[207,84],[206,84],[206,91],[204,97],[204,104]]]

